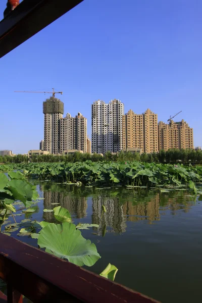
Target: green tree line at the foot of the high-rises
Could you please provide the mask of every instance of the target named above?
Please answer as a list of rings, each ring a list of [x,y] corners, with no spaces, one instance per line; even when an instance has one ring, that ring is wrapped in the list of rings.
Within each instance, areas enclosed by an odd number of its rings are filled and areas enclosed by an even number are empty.
[[[83,162],[86,160],[96,161],[141,161],[148,163],[183,163],[183,164],[202,164],[202,150],[194,149],[169,149],[167,151],[160,150],[159,153],[146,154],[131,153],[128,151],[112,155],[110,151],[103,157],[98,154],[81,154],[76,152],[69,156],[54,155],[33,155],[32,159],[28,159],[25,155],[0,156],[0,163],[27,163],[27,162]]]

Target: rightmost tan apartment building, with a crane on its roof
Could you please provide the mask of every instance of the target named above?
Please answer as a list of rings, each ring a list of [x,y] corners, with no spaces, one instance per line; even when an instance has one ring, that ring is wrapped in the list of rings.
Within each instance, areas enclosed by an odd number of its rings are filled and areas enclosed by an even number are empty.
[[[169,148],[194,148],[193,128],[184,120],[170,123],[159,122],[159,150]]]

